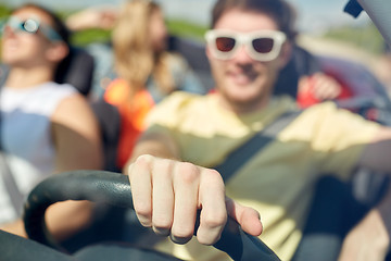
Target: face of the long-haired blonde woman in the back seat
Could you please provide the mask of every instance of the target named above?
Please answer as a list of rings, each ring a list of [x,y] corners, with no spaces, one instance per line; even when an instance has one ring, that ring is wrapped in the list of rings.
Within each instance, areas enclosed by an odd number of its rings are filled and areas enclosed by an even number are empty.
[[[161,52],[167,49],[167,27],[164,22],[163,13],[160,10],[152,12],[150,20],[150,40],[154,52]]]

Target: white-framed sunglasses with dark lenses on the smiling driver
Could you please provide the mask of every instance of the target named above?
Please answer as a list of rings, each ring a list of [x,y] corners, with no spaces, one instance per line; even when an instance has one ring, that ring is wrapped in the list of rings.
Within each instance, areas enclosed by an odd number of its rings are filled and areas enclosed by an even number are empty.
[[[287,36],[279,30],[255,30],[238,33],[228,29],[212,29],[205,34],[212,54],[220,60],[231,59],[242,45],[248,54],[261,62],[268,62],[278,57]]]

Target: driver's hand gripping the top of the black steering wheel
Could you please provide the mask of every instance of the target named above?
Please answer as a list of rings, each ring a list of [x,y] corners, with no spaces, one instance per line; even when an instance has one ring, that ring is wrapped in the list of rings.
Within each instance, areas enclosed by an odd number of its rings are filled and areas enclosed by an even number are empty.
[[[141,156],[128,166],[134,207],[140,223],[159,235],[185,244],[194,231],[201,210],[197,238],[216,243],[227,222],[227,213],[243,231],[258,236],[258,213],[225,197],[220,174],[187,162]]]

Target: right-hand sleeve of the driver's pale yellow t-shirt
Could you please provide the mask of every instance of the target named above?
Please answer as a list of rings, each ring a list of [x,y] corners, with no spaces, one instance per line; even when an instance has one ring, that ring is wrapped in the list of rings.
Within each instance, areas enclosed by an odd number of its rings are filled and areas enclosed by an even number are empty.
[[[337,109],[333,103],[314,108],[312,147],[323,173],[336,173],[346,178],[352,173],[365,147],[374,140],[380,125],[358,114]]]

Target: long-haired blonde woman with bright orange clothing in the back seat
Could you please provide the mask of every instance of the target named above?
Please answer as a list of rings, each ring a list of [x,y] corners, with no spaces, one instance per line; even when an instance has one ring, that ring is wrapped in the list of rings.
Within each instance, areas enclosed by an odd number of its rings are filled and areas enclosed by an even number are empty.
[[[156,102],[175,90],[206,92],[187,62],[167,51],[167,38],[156,3],[133,0],[123,5],[112,37],[118,78],[104,94],[104,99],[122,114],[118,167],[128,160],[143,130],[143,120]]]

